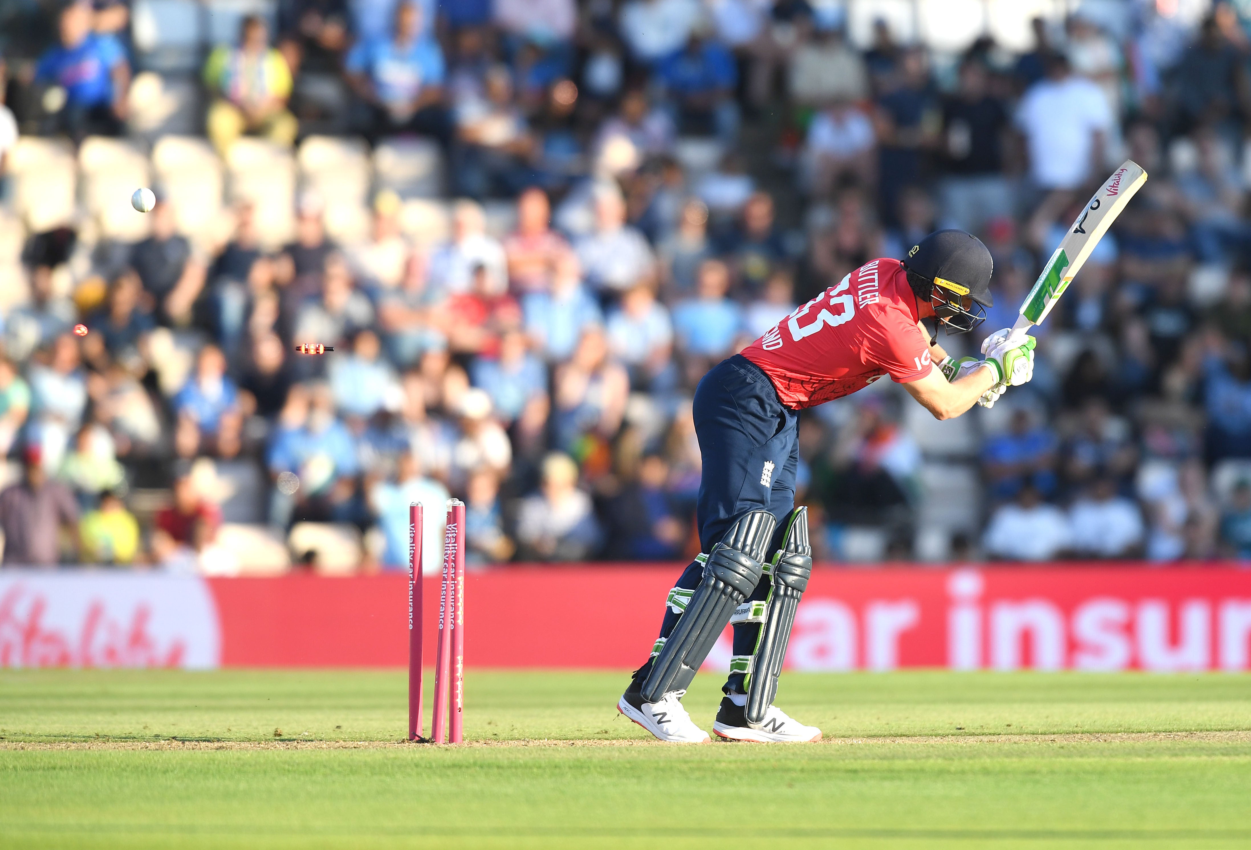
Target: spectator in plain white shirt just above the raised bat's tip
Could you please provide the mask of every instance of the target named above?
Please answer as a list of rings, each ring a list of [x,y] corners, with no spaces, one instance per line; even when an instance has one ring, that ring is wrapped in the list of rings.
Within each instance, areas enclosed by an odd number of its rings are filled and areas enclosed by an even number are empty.
[[[1102,172],[1112,121],[1103,91],[1075,76],[1063,55],[1050,56],[1047,76],[1025,93],[1016,115],[1035,185],[1045,190],[1076,189],[1092,170]]]

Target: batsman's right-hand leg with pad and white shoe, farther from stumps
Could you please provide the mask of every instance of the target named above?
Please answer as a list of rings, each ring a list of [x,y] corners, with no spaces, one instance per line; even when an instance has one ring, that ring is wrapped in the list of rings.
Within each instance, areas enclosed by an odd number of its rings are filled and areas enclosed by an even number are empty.
[[[713,732],[723,739],[762,744],[821,740],[819,729],[793,720],[773,705],[799,597],[812,573],[808,509],[792,507],[798,462],[796,442],[769,503],[778,512],[778,526],[766,573],[732,620],[734,655],[713,724]]]

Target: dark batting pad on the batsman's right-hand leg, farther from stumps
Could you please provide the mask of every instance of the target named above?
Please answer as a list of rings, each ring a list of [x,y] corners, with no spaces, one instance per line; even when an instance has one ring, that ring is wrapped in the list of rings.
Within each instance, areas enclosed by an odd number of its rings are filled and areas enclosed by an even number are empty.
[[[808,542],[808,508],[793,509],[778,527],[779,538],[772,558],[772,582],[767,600],[767,616],[756,640],[756,651],[747,671],[747,722],[764,721],[764,715],[777,696],[778,676],[786,660],[791,628],[799,607],[799,597],[812,576],[812,546]],[[733,671],[732,671],[733,672]]]

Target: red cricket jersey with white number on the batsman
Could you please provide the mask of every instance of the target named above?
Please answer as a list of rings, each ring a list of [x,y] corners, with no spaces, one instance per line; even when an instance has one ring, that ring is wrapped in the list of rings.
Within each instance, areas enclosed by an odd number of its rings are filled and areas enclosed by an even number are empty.
[[[884,374],[929,374],[929,344],[897,259],[864,263],[743,349],[791,409],[849,396]]]

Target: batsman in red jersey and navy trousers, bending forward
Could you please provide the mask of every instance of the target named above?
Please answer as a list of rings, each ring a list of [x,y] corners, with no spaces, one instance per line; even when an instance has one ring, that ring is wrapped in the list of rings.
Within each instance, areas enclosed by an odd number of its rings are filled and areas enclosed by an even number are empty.
[[[807,508],[794,507],[798,412],[891,376],[938,419],[1033,377],[1033,337],[988,338],[985,359],[950,358],[924,319],[967,333],[991,307],[991,253],[938,230],[901,260],[874,259],[782,319],[699,382],[702,553],[666,600],[661,636],[617,710],[662,741],[699,744],[682,696],[726,623],[733,658],[713,731],[736,741],[817,741],[773,705],[796,608],[812,572]],[[938,368],[934,368],[937,366]]]

